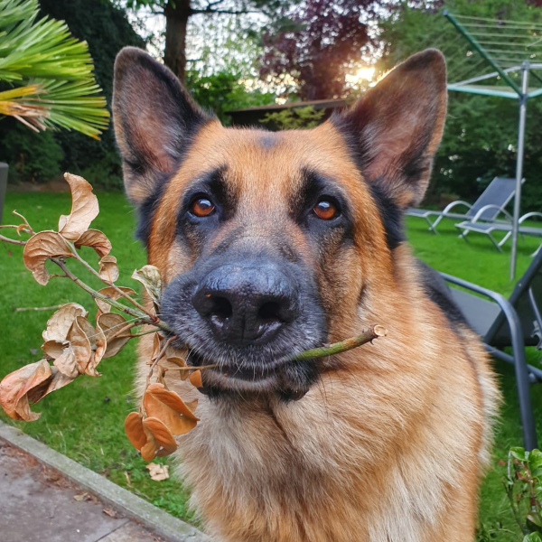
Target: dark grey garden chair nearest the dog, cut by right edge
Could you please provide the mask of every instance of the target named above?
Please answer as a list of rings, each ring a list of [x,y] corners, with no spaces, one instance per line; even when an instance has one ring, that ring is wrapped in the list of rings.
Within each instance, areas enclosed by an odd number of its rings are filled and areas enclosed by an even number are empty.
[[[482,337],[486,349],[514,366],[525,447],[536,448],[529,384],[542,382],[542,369],[528,365],[525,347],[542,349],[542,317],[537,306],[537,301],[542,302],[542,250],[519,278],[509,299],[461,278],[445,273],[441,276],[446,282],[469,290],[450,289],[455,303],[472,329]],[[511,346],[511,355],[502,350],[508,346]]]

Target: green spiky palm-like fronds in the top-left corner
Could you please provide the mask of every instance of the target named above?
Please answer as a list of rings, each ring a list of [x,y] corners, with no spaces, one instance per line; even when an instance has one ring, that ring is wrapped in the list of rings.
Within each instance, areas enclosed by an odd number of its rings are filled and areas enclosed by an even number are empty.
[[[36,131],[61,126],[98,139],[109,113],[96,96],[87,42],[63,21],[36,20],[38,11],[38,0],[0,0],[0,81],[11,87],[0,91],[0,116]]]

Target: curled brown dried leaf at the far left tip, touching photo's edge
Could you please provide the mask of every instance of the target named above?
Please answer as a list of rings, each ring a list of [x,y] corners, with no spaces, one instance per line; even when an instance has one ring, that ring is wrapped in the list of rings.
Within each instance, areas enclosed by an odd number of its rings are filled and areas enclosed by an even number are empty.
[[[51,377],[51,365],[46,360],[36,361],[7,375],[0,382],[0,405],[14,420],[33,422],[41,414],[32,412],[28,394]]]

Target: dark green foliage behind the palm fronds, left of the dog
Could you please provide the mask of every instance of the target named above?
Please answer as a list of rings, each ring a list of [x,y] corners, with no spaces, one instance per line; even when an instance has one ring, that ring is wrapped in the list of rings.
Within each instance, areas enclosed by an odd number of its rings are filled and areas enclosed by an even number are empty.
[[[75,38],[88,43],[96,80],[110,105],[117,52],[125,45],[145,46],[125,12],[102,0],[41,0],[40,9],[40,17],[65,21]],[[66,130],[52,136],[17,131],[14,138],[13,129],[11,119],[0,122],[0,160],[10,164],[10,179],[46,182],[62,171],[72,171],[84,173],[101,188],[122,187],[122,168],[112,126],[99,141]]]

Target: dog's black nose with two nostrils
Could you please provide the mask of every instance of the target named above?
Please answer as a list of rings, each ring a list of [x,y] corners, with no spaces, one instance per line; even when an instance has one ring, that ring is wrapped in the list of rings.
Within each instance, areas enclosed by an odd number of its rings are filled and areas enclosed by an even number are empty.
[[[192,304],[217,341],[237,346],[269,341],[299,315],[294,280],[274,264],[256,262],[214,269],[201,281]]]

